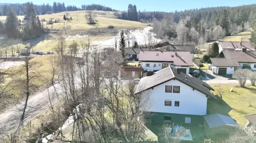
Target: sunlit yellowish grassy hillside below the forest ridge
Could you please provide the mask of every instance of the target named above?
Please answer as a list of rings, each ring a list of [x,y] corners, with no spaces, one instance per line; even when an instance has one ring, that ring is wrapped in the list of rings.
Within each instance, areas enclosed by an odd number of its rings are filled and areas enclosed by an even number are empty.
[[[39,38],[39,43],[36,44],[33,49],[39,49],[42,52],[52,51],[53,47],[57,44],[57,41],[54,40],[60,36],[64,25],[66,34],[68,36],[68,40],[66,40],[67,44],[71,43],[73,39],[77,42],[80,42],[82,38],[87,39],[88,37],[90,37],[90,41],[107,40],[115,35],[116,30],[140,29],[149,26],[148,24],[143,24],[141,22],[120,20],[114,16],[115,12],[113,11],[95,11],[95,13],[97,13],[97,17],[95,18],[98,26],[97,28],[94,25],[87,24],[86,18],[84,18],[86,10],[68,11],[68,18],[72,17],[72,21],[63,20],[64,14],[66,15],[66,12],[39,16],[40,20],[52,20],[53,24],[50,25],[47,24],[47,22],[43,22],[44,27],[49,28],[51,32],[42,41],[40,41]],[[5,21],[5,18],[5,16],[0,16],[0,21]],[[23,20],[23,18],[24,16],[18,16],[18,19],[20,20]],[[55,20],[60,20],[60,22],[54,23]],[[110,25],[114,26],[114,28],[108,28]],[[63,32],[62,36],[67,38],[66,34]],[[25,41],[23,44],[27,44],[28,42],[34,43],[36,41],[38,41],[38,39]]]

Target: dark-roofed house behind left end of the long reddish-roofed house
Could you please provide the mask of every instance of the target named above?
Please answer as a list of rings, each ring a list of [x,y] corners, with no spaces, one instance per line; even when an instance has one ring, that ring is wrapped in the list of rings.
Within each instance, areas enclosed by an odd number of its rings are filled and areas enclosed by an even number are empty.
[[[127,59],[139,59],[139,53],[149,51],[149,48],[124,48]]]

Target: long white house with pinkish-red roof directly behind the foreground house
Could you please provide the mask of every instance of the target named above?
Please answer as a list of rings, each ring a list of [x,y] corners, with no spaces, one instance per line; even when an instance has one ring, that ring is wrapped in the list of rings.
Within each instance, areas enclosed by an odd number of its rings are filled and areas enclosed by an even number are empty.
[[[190,66],[194,65],[190,52],[144,51],[140,52],[139,61],[145,71],[159,71],[172,65],[185,74],[189,74]]]

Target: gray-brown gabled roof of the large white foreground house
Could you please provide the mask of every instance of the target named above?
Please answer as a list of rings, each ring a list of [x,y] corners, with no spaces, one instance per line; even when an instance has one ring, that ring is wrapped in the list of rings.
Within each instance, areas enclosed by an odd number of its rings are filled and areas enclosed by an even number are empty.
[[[160,71],[155,72],[155,74],[152,76],[146,76],[140,79],[140,82],[135,90],[135,94],[149,90],[150,88],[156,87],[170,80],[176,79],[179,80],[181,83],[184,83],[187,86],[190,86],[195,90],[202,92],[206,96],[215,98],[215,96],[212,95],[209,90],[207,90],[207,88],[210,90],[214,90],[212,87],[209,86],[209,84],[202,82],[202,80],[183,74],[182,72],[180,72],[180,74],[177,74],[176,70],[177,69],[172,69],[171,67],[166,67],[164,69],[161,69]]]

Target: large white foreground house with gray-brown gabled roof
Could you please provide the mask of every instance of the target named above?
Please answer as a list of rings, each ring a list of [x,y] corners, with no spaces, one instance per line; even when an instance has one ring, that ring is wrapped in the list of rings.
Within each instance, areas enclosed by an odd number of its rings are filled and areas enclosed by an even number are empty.
[[[154,103],[146,111],[186,115],[206,115],[207,98],[215,98],[207,83],[166,67],[140,80],[135,94]]]

